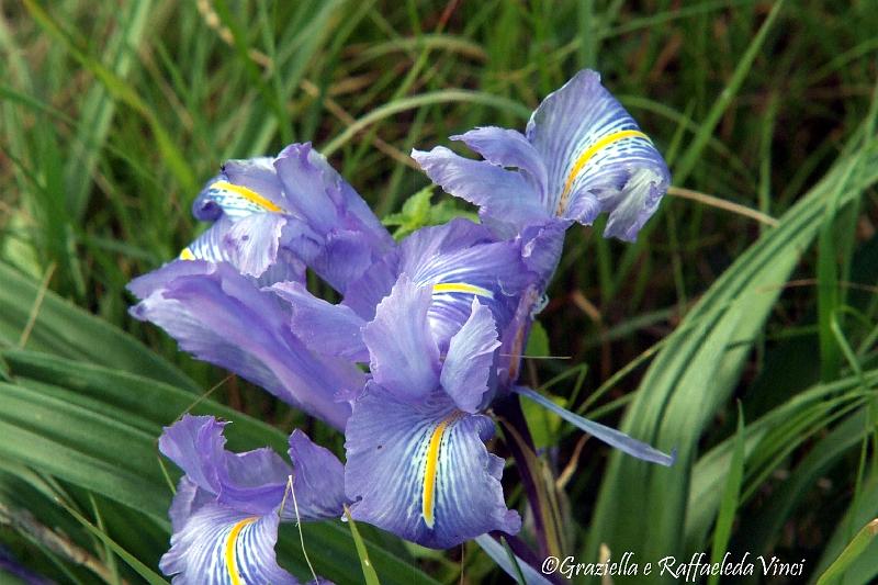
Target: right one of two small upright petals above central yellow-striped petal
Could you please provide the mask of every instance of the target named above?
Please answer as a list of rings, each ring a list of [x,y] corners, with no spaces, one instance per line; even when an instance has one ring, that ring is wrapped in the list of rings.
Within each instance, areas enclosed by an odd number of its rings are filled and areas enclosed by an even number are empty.
[[[491,310],[473,299],[472,313],[448,345],[439,381],[458,408],[475,413],[496,383],[497,326]]]

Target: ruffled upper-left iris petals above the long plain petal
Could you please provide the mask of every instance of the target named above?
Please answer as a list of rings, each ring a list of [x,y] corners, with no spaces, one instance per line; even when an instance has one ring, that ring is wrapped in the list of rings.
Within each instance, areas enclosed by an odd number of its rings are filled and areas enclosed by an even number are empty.
[[[261,283],[302,281],[307,265],[344,293],[393,247],[362,198],[311,144],[290,145],[273,159],[229,160],[192,213],[215,223],[180,258],[228,261]]]

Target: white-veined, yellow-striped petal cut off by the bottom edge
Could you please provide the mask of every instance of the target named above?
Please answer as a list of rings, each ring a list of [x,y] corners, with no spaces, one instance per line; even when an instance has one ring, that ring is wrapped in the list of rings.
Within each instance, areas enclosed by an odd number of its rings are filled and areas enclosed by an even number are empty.
[[[275,559],[279,521],[205,504],[175,531],[159,567],[175,585],[295,584]]]

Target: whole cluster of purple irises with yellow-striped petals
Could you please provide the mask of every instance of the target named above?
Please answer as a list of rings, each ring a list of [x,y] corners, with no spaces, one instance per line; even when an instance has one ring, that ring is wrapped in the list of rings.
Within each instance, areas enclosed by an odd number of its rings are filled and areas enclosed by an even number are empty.
[[[525,134],[481,127],[414,151],[429,178],[480,207],[395,243],[308,144],[227,162],[195,199],[212,226],[180,258],[140,277],[132,314],[196,358],[227,368],[345,434],[342,464],[300,430],[292,468],[277,453],[229,453],[223,424],[185,416],[162,453],[184,476],[161,569],[175,583],[292,583],[278,525],[352,518],[450,548],[516,533],[504,461],[486,449],[491,406],[519,394],[634,457],[672,458],[561,409],[517,383],[533,316],[564,233],[609,214],[631,240],[669,182],[667,168],[597,74],[581,71],[533,112]],[[311,269],[342,299],[305,285]]]

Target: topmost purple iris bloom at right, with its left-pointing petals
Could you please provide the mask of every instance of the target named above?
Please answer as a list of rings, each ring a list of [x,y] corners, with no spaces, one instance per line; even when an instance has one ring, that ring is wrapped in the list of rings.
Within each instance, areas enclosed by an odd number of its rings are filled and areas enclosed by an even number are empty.
[[[590,225],[606,212],[604,235],[633,240],[671,182],[650,138],[590,70],[549,94],[525,134],[488,126],[451,139],[484,160],[443,146],[412,156],[448,193],[479,205],[482,222],[498,235],[525,236],[526,254],[543,256],[550,272],[558,235],[571,223]]]

